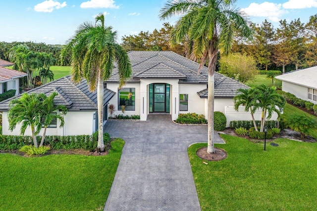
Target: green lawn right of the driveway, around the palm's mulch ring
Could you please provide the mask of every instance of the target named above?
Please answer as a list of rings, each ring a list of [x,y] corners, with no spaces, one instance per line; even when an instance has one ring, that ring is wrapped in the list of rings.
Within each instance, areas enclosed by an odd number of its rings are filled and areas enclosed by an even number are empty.
[[[203,211],[317,210],[317,144],[277,139],[278,147],[221,135],[228,158],[204,164],[189,147]]]

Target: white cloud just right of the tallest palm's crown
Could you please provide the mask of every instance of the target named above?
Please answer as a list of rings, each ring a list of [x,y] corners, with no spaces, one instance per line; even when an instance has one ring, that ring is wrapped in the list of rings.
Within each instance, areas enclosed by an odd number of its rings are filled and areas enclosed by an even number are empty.
[[[249,7],[242,8],[242,11],[254,17],[266,17],[268,20],[278,22],[285,13],[288,11],[282,9],[281,3],[273,3],[264,1],[263,3],[251,3]]]

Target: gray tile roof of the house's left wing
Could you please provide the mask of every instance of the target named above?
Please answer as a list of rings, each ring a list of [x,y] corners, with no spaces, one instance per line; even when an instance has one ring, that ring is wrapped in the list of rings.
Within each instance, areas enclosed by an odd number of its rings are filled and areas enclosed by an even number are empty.
[[[28,93],[44,93],[51,95],[57,92],[54,99],[55,105],[64,105],[68,110],[97,110],[97,92],[90,92],[86,80],[79,84],[70,81],[70,76],[57,79],[51,83],[37,87],[28,91]],[[104,105],[115,95],[115,92],[104,89]],[[21,95],[14,96],[0,103],[0,111],[8,110],[9,101],[19,98]]]

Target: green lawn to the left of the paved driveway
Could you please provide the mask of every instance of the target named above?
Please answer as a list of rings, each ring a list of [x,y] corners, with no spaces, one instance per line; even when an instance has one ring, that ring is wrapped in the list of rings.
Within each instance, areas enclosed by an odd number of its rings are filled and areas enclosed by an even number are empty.
[[[0,210],[102,210],[123,145],[106,156],[0,154]]]

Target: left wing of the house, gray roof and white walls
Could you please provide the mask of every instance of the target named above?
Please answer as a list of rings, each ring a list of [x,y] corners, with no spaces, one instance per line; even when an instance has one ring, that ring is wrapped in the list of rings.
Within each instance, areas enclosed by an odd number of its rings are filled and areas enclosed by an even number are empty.
[[[70,81],[70,76],[57,79],[51,83],[37,87],[28,91],[28,93],[45,93],[51,95],[57,92],[55,97],[56,105],[64,105],[68,108],[68,112],[64,116],[64,126],[59,127],[59,122],[53,122],[47,128],[47,135],[91,135],[98,130],[97,117],[97,93],[91,93],[88,89],[86,80],[82,80],[75,85]],[[115,95],[114,92],[104,89],[105,109],[104,121],[107,119],[107,102]],[[19,98],[14,96],[13,98]],[[9,131],[9,123],[7,119],[8,99],[0,103],[0,111],[2,114],[2,134],[4,135],[20,135],[20,125],[11,132]],[[58,111],[56,111],[58,112]],[[58,120],[57,120],[58,121]],[[40,132],[42,134],[42,131]],[[28,128],[25,135],[31,135],[31,129]]]

